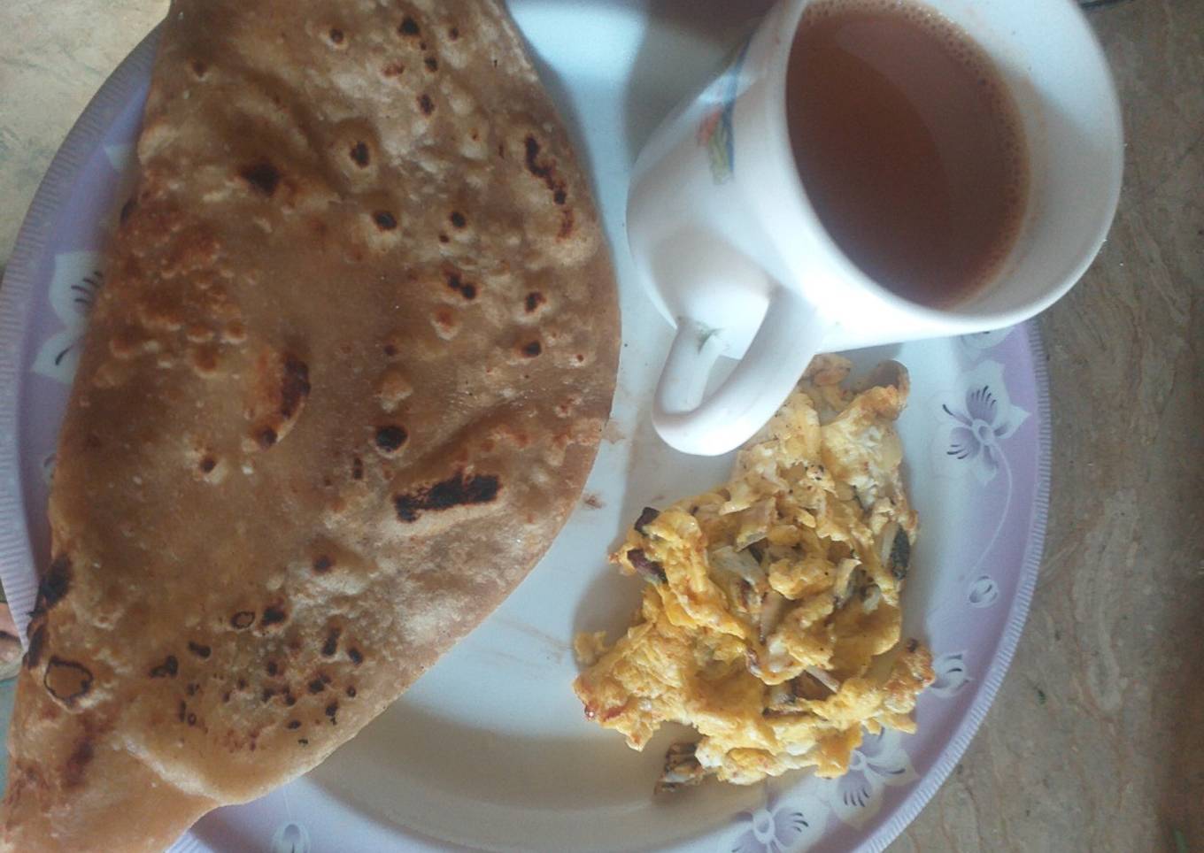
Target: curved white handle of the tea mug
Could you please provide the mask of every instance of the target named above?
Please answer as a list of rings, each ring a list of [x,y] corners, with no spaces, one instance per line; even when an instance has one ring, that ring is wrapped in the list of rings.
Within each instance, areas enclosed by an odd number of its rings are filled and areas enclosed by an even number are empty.
[[[790,396],[819,353],[821,332],[814,306],[777,286],[748,353],[703,399],[722,345],[714,330],[680,318],[656,385],[653,426],[669,445],[686,454],[719,456],[734,450]]]

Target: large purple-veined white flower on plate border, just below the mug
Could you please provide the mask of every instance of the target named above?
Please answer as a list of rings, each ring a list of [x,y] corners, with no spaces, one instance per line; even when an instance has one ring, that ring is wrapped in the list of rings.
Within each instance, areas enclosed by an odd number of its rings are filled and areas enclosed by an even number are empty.
[[[1013,405],[1003,384],[1003,366],[984,361],[967,374],[967,387],[940,403],[945,415],[945,456],[969,464],[982,485],[1005,464],[999,443],[1011,438],[1028,413]]]

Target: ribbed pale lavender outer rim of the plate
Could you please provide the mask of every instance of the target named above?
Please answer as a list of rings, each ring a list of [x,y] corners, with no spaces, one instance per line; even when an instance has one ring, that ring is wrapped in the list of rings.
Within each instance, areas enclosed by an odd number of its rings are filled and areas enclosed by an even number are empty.
[[[155,25],[122,60],[101,84],[76,119],[39,184],[22,220],[7,267],[0,279],[0,517],[18,520],[0,527],[0,562],[31,565],[33,552],[26,529],[26,505],[20,488],[20,448],[18,445],[19,404],[24,396],[24,362],[28,340],[24,336],[37,294],[37,269],[45,260],[52,227],[64,211],[66,196],[75,185],[87,159],[104,138],[112,115],[128,106],[129,99],[144,85],[155,60],[161,24]],[[1049,497],[1052,472],[1052,423],[1049,391],[1049,371],[1045,345],[1035,319],[1015,327],[1025,334],[1032,377],[1037,392],[1037,466],[1035,494],[1028,521],[1028,543],[1019,568],[1015,594],[1011,599],[1005,627],[996,644],[990,667],[984,675],[974,701],[945,742],[933,766],[911,792],[881,819],[878,828],[866,835],[858,846],[883,851],[928,805],[961,762],[995,703],[1008,674],[1027,622],[1033,594],[1044,558],[1045,534],[1049,522]],[[36,571],[16,588],[6,588],[10,603],[33,602],[36,593]],[[13,612],[20,629],[20,642],[28,645],[26,608]],[[371,819],[365,815],[365,819]],[[405,828],[407,833],[414,831]],[[704,836],[703,836],[704,837]],[[701,840],[701,837],[700,837]],[[208,851],[189,829],[172,847],[172,853]]]

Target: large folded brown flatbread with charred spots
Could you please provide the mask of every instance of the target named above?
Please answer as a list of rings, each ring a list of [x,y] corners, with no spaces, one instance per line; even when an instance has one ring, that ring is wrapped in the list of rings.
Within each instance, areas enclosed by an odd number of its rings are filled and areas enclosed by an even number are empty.
[[[159,849],[321,762],[544,552],[614,389],[588,182],[497,2],[175,0],[138,164],[2,849]]]

